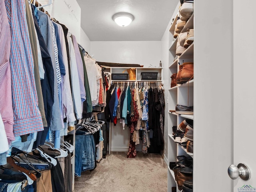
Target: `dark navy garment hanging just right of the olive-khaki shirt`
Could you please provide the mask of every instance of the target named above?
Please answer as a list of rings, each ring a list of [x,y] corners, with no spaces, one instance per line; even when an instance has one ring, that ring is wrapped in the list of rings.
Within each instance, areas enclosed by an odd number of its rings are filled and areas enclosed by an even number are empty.
[[[44,42],[44,38],[39,28],[38,22],[34,15],[33,4],[31,4],[31,8],[32,8],[32,15],[34,19],[34,25],[36,28],[36,33],[37,33],[38,41],[40,44],[44,71],[45,71],[44,79],[41,80],[41,86],[42,86],[42,94],[44,99],[44,112],[45,112],[46,121],[48,124],[47,127],[44,127],[43,131],[38,132],[36,141],[34,142],[34,148],[36,148],[37,146],[44,144],[48,130],[50,128],[50,122],[52,118],[52,105],[54,103],[54,70],[52,68],[52,60],[51,60],[50,54],[48,52],[47,46]]]

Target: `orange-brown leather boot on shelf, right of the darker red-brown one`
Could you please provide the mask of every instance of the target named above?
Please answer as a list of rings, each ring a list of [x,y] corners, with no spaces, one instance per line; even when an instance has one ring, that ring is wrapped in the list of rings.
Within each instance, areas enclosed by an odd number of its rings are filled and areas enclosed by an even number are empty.
[[[185,83],[189,80],[192,80],[194,77],[194,63],[193,62],[184,62],[183,68],[180,72],[180,81],[178,82],[177,78],[177,83],[182,84]]]

